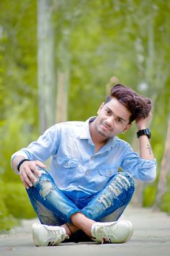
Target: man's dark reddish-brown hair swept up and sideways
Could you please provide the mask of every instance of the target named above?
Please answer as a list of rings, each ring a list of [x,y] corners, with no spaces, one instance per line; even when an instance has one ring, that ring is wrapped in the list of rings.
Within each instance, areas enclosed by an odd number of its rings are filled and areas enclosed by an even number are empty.
[[[115,85],[110,90],[110,94],[107,96],[104,103],[111,101],[112,98],[117,98],[120,103],[128,108],[128,111],[131,113],[129,123],[135,119],[140,120],[148,117],[152,108],[149,98],[136,93],[132,88],[125,85]]]

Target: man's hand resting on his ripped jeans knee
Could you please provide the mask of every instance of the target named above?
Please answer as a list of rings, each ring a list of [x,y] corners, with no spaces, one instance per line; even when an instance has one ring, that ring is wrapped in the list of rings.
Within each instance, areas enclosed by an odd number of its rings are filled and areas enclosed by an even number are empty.
[[[22,183],[27,189],[37,182],[35,175],[39,177],[41,176],[40,171],[37,168],[38,166],[46,168],[40,161],[24,161],[19,168],[19,175],[22,179]]]

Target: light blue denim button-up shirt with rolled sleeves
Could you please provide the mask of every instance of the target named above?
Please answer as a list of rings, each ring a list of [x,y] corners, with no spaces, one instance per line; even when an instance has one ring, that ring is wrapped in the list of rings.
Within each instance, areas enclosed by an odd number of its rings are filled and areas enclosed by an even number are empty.
[[[37,141],[14,153],[12,159],[23,155],[30,161],[44,162],[52,155],[49,172],[55,183],[64,191],[83,192],[82,195],[93,195],[101,190],[118,168],[144,182],[156,179],[156,160],[140,158],[128,142],[118,137],[109,138],[94,153],[89,120],[55,124]]]

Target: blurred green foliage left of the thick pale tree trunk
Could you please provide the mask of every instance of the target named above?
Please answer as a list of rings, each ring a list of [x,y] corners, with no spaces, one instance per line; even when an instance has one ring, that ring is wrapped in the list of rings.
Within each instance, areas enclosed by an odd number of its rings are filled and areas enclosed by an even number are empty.
[[[8,230],[32,216],[10,159],[37,137],[37,10],[30,0],[0,1],[0,9],[0,230]]]

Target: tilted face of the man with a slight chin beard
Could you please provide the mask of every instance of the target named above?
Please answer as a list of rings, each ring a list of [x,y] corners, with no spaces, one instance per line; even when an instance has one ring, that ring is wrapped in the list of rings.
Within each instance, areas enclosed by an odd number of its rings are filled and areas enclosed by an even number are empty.
[[[131,126],[129,124],[131,113],[117,98],[112,98],[108,103],[102,103],[97,114],[94,127],[98,134],[106,139],[127,131]]]

